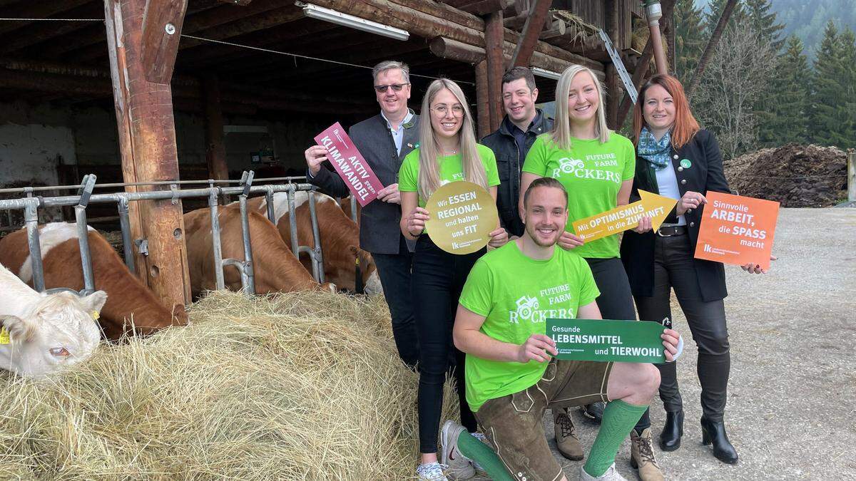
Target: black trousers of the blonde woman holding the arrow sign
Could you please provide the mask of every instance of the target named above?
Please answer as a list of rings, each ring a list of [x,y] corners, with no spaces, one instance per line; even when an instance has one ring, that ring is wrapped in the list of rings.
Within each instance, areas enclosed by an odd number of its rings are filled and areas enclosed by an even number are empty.
[[[604,319],[631,320],[636,318],[633,310],[633,293],[630,290],[630,281],[627,280],[627,271],[621,258],[586,258],[594,283],[600,295],[597,297],[597,309],[600,317]],[[674,364],[674,363],[672,363]],[[651,427],[650,409],[646,409],[639,422],[634,428],[641,433]]]

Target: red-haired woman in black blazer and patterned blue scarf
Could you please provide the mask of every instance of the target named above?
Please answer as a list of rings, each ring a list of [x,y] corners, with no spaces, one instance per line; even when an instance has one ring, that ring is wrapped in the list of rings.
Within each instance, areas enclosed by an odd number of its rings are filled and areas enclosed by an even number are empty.
[[[633,290],[639,319],[672,318],[669,308],[675,289],[681,311],[698,345],[698,380],[701,382],[702,442],[713,444],[713,454],[726,463],[737,462],[728,441],[722,415],[725,411],[728,371],[728,328],[722,299],[725,270],[721,263],[693,258],[698,224],[707,200],[704,193],[729,193],[722,173],[722,155],[710,132],[699,128],[689,109],[684,88],[675,77],[657,74],[639,91],[633,112],[636,175],[631,200],[639,189],[678,199],[675,209],[656,232],[627,231],[621,242],[621,259]],[[757,265],[744,270],[760,273]],[[660,398],[666,424],[660,447],[681,447],[683,409],[674,362],[658,365]]]

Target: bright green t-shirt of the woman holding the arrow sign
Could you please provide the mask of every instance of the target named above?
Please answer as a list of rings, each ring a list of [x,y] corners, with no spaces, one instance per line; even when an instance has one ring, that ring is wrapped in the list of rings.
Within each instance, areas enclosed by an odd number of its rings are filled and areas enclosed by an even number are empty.
[[[574,221],[615,209],[621,183],[633,179],[636,151],[633,142],[619,134],[609,140],[571,140],[571,150],[558,148],[550,134],[542,134],[532,144],[523,163],[523,171],[552,177],[568,190],[568,225]],[[584,258],[617,258],[618,236],[609,235],[574,248]]]

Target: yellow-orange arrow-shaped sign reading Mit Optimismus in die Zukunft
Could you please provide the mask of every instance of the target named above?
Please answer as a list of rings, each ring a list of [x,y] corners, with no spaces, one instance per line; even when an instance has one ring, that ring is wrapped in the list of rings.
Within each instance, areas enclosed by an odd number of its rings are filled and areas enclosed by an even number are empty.
[[[639,219],[642,217],[651,217],[651,228],[657,230],[669,216],[672,207],[678,203],[675,199],[644,190],[639,190],[639,197],[642,200],[633,204],[621,205],[611,211],[601,212],[574,222],[574,232],[584,241],[594,241],[624,230],[634,229],[639,225]]]

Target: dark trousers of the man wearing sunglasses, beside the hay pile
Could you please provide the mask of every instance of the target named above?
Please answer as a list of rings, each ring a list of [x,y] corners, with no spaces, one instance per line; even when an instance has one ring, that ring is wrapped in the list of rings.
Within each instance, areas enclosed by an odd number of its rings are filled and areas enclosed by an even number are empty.
[[[413,253],[407,250],[404,236],[400,237],[399,253],[372,253],[372,258],[383,286],[383,297],[386,298],[392,317],[392,336],[395,338],[398,356],[405,364],[415,367],[419,361],[419,337],[410,302]]]

